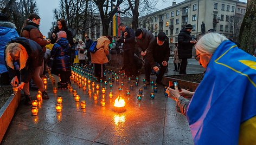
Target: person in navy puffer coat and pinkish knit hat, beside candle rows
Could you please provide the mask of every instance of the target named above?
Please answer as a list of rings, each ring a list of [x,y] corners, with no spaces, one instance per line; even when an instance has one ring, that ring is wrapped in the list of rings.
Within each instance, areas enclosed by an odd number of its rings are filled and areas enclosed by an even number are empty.
[[[67,89],[67,84],[70,81],[71,65],[70,65],[70,45],[67,40],[65,31],[57,33],[57,41],[53,45],[50,56],[53,57],[52,74],[60,75],[61,83],[59,89]]]

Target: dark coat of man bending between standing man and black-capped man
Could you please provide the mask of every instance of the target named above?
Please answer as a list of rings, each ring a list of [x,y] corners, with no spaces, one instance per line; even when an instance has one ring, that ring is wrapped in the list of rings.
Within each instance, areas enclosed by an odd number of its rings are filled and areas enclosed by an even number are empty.
[[[152,32],[146,30],[145,28],[140,28],[142,30],[142,38],[138,39],[136,38],[136,48],[138,49],[138,52],[145,51],[149,48],[149,43],[153,41],[155,38],[152,34]]]

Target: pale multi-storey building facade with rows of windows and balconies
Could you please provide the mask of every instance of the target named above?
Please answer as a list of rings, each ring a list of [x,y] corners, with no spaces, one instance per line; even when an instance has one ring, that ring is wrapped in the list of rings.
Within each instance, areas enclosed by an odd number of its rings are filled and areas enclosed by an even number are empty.
[[[227,38],[238,38],[246,3],[238,0],[186,0],[173,2],[168,8],[139,18],[139,27],[150,30],[155,36],[165,32],[171,49],[178,42],[178,34],[187,24],[193,25],[191,36],[214,29]]]

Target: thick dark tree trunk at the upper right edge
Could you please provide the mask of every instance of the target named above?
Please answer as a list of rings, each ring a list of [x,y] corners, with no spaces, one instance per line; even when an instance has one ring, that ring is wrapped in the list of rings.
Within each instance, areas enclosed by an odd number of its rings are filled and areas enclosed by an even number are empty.
[[[247,1],[245,17],[242,21],[239,35],[240,48],[249,54],[254,54],[256,48],[256,0]]]

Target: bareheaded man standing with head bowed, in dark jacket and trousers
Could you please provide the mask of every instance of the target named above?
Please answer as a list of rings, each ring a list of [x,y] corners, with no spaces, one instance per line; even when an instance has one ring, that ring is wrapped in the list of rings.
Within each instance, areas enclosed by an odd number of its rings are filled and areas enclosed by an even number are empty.
[[[133,29],[125,26],[123,23],[119,24],[118,28],[122,31],[121,38],[118,42],[124,43],[124,70],[125,74],[135,80],[137,74],[135,63],[134,63],[134,53],[135,53],[135,32]]]

